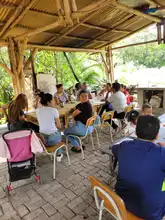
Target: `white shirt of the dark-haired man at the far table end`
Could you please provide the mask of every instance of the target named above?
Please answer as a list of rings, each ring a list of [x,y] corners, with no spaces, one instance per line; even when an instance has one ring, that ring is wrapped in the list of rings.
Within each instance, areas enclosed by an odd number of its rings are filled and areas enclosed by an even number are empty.
[[[112,104],[113,110],[117,113],[124,112],[127,106],[126,96],[120,91],[112,94],[107,101]]]

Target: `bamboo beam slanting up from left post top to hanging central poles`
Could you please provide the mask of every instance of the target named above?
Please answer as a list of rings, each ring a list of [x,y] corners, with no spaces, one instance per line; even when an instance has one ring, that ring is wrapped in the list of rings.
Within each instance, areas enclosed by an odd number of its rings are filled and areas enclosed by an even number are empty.
[[[57,21],[53,22],[52,24],[48,24],[46,26],[27,31],[24,34],[15,37],[15,39],[19,40],[19,39],[24,38],[24,37],[32,37],[36,34],[39,34],[41,32],[44,32],[44,31],[47,31],[47,30],[50,30],[50,29],[53,29],[53,28],[56,28],[60,25],[61,25],[61,22],[59,20],[57,20]]]

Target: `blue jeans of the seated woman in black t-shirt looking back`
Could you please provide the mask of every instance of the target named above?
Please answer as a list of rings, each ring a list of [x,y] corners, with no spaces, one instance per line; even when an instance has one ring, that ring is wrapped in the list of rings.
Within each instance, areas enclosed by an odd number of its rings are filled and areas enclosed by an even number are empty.
[[[94,129],[94,126],[90,126],[88,129],[88,134],[91,134],[93,132],[93,129]],[[76,121],[72,127],[65,129],[64,135],[67,137],[68,135],[73,134],[78,137],[83,137],[85,136],[86,131],[87,131],[86,126],[80,121]],[[77,138],[69,137],[68,140],[69,142],[71,142],[73,147],[80,146],[79,140]]]

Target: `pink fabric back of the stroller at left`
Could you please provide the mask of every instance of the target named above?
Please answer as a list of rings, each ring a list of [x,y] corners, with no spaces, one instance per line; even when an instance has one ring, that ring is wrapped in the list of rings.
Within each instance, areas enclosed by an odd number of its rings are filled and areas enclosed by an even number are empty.
[[[25,161],[33,157],[31,135],[32,130],[12,131],[2,135],[11,155],[9,162]]]

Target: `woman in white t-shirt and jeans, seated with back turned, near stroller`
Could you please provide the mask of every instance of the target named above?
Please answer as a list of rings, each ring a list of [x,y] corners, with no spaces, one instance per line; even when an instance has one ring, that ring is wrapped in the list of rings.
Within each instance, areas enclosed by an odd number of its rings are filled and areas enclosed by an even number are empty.
[[[41,108],[37,108],[36,114],[39,122],[40,134],[43,136],[47,146],[53,146],[61,142],[61,128],[59,113],[54,108],[54,98],[51,94],[40,94]],[[57,153],[57,161],[60,162],[63,157],[62,150]]]

